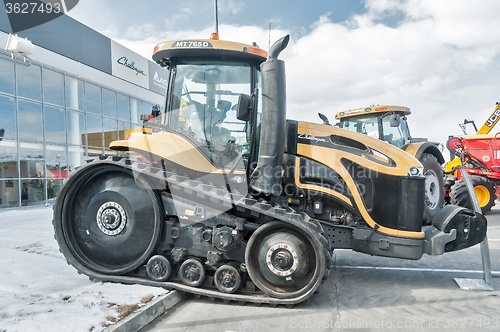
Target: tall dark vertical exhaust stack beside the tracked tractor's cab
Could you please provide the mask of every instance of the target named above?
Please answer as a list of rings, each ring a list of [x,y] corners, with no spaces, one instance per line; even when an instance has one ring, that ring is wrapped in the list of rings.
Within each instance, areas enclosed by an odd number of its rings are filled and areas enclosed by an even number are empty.
[[[286,129],[285,62],[278,55],[288,45],[290,36],[271,47],[260,65],[262,77],[262,122],[257,167],[250,179],[253,190],[265,195],[280,195]]]

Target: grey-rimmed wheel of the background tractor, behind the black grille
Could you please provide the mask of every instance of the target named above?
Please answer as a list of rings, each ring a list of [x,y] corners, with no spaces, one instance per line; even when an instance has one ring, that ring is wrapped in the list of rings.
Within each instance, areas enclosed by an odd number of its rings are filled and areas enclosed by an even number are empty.
[[[444,205],[443,171],[437,158],[430,153],[423,153],[420,162],[425,176],[424,225],[430,225]]]

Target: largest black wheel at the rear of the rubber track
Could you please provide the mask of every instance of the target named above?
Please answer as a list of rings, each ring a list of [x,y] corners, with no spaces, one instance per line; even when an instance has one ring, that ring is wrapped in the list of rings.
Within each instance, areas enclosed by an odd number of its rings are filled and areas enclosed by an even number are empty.
[[[109,162],[78,170],[56,203],[56,238],[78,270],[119,275],[151,256],[161,213],[156,194],[132,172]]]

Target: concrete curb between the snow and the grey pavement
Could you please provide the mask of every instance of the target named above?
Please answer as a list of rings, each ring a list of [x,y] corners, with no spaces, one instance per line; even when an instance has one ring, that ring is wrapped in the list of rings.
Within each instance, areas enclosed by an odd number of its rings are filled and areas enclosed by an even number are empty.
[[[175,306],[184,298],[184,293],[174,290],[149,302],[144,307],[130,314],[116,325],[109,326],[103,332],[137,332],[156,317]]]

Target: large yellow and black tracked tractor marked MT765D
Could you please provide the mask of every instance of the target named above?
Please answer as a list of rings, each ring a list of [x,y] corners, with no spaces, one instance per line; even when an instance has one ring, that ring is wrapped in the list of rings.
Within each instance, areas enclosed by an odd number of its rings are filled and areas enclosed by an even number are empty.
[[[218,39],[159,44],[168,68],[153,130],[112,142],[67,179],[54,229],[91,279],[293,306],[321,290],[331,253],[419,259],[475,245],[486,219],[449,205],[422,231],[413,156],[365,135],[286,119],[289,37],[267,53]],[[141,155],[141,161],[136,160]]]

